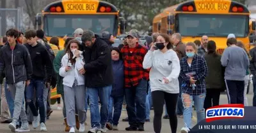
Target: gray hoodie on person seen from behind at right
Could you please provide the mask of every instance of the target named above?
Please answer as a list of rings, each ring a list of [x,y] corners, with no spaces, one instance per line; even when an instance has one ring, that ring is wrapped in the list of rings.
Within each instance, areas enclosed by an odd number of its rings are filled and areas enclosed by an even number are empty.
[[[248,55],[239,46],[229,46],[221,56],[221,65],[226,67],[225,80],[243,81],[249,64]]]

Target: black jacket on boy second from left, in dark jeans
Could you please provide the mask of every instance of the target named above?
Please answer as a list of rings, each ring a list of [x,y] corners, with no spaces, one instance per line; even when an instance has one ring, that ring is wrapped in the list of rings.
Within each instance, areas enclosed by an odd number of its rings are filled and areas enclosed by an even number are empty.
[[[51,81],[52,76],[52,61],[49,53],[47,52],[44,45],[41,43],[37,43],[36,46],[31,46],[25,44],[30,53],[32,66],[33,66],[33,74],[32,78],[35,80],[44,80],[45,78],[45,69],[46,69],[46,81]]]

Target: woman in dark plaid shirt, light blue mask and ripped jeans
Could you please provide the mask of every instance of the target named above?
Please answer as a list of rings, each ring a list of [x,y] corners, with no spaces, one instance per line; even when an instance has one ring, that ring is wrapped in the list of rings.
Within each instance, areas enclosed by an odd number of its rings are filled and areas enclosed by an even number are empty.
[[[205,118],[205,77],[207,76],[207,64],[204,57],[197,55],[195,43],[186,44],[186,57],[180,60],[180,76],[182,78],[182,102],[184,106],[184,127],[182,133],[188,133],[192,129],[192,105],[196,108],[197,123]]]

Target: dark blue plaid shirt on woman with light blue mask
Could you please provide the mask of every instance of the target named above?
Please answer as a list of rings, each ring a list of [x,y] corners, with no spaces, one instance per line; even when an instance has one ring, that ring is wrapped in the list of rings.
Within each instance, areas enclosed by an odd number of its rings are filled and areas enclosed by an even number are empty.
[[[188,66],[188,57],[183,57],[180,60],[180,76],[182,78],[182,93],[189,95],[200,95],[205,92],[205,77],[207,76],[207,65],[204,57],[195,55],[191,67]],[[193,75],[196,80],[195,90],[192,89],[191,83],[189,82],[189,76],[186,74],[195,73]]]

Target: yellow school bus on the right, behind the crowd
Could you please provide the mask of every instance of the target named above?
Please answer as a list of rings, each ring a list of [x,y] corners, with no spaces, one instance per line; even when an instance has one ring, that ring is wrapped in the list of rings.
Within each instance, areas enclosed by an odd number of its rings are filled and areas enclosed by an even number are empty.
[[[153,20],[152,32],[172,34],[179,32],[182,42],[201,40],[206,35],[214,40],[217,52],[222,54],[227,47],[230,33],[243,41],[250,49],[249,34],[255,30],[255,21],[250,23],[250,11],[246,6],[230,0],[186,1],[163,10]]]

